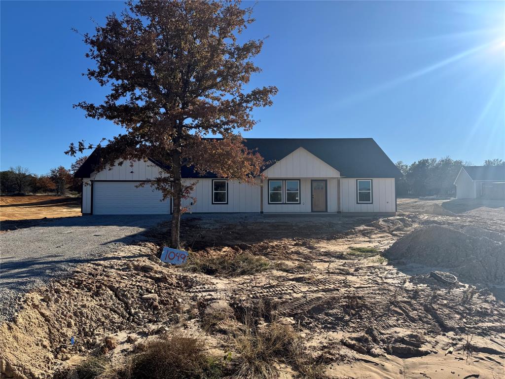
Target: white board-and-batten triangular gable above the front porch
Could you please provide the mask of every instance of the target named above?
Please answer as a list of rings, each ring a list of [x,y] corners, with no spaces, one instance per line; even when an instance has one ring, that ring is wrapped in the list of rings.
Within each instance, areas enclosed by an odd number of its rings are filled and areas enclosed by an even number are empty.
[[[331,178],[340,173],[304,148],[298,148],[263,171],[269,178]]]

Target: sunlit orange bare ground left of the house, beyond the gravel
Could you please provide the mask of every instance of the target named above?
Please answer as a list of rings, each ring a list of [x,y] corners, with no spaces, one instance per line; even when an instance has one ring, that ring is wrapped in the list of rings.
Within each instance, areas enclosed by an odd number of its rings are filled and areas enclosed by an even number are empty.
[[[80,198],[48,195],[0,197],[0,222],[4,224],[2,230],[9,226],[21,226],[25,220],[80,215]]]

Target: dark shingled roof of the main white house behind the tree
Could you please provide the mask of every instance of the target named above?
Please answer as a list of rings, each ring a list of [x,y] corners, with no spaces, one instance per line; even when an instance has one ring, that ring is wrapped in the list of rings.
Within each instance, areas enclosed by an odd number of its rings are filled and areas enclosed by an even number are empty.
[[[258,149],[265,161],[271,161],[267,168],[302,147],[338,170],[344,177],[401,177],[400,171],[373,138],[246,138],[244,145],[250,150]],[[75,176],[89,177],[98,155],[95,150],[77,170]],[[160,165],[153,160],[151,162]],[[182,177],[215,177],[215,175],[208,173],[198,176],[191,167],[183,167]]]

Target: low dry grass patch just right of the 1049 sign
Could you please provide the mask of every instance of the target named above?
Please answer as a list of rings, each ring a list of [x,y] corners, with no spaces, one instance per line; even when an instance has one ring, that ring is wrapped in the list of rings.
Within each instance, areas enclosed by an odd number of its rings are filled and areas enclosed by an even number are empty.
[[[268,259],[250,253],[225,254],[217,257],[190,253],[183,267],[190,272],[222,276],[252,275],[273,268]]]

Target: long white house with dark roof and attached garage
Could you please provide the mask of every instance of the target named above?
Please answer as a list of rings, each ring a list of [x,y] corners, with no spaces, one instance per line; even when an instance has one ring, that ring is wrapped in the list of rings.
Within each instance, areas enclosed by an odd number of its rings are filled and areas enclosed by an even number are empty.
[[[395,178],[401,173],[372,138],[247,138],[269,164],[259,185],[185,167],[183,180],[196,181],[190,212],[396,212]],[[76,172],[83,179],[83,214],[171,213],[171,202],[141,181],[168,175],[154,160],[129,162],[95,172],[95,150]]]

